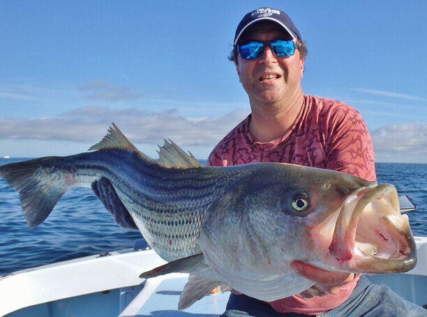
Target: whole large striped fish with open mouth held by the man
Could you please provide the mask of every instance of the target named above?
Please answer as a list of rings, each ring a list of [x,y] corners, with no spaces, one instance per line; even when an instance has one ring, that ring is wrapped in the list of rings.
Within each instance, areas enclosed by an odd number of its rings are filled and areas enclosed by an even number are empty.
[[[264,301],[301,293],[314,282],[293,261],[355,273],[416,264],[392,185],[284,163],[203,167],[171,142],[154,161],[114,124],[90,150],[3,165],[0,176],[20,193],[29,228],[71,187],[104,184],[107,209],[130,216],[170,262],[142,277],[190,273],[180,309],[218,284]]]

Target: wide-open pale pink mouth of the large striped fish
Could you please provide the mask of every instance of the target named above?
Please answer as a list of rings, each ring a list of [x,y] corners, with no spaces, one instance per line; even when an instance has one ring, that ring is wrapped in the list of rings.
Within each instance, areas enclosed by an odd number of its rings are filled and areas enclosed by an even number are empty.
[[[417,247],[396,188],[373,184],[352,193],[340,209],[329,245],[330,261],[361,273],[406,272],[417,264]],[[332,264],[332,263],[330,263]]]

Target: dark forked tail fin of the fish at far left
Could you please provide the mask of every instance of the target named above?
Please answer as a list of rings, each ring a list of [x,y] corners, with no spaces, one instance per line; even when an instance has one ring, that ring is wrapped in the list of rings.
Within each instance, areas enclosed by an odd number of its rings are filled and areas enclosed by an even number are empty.
[[[51,156],[0,166],[0,177],[20,194],[29,228],[42,223],[71,187],[64,172],[54,167],[59,159]]]

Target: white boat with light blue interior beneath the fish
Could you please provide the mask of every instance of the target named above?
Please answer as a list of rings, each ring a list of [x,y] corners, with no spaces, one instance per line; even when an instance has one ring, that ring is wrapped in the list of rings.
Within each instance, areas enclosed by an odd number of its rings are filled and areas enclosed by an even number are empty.
[[[409,198],[402,208],[414,210]],[[411,205],[412,204],[412,205]],[[400,274],[368,276],[398,295],[427,309],[427,237],[414,237],[418,262]],[[7,317],[133,317],[218,316],[229,293],[213,292],[179,311],[178,301],[188,274],[172,273],[142,280],[142,272],[165,260],[137,239],[133,249],[100,253],[0,276],[0,316]]]

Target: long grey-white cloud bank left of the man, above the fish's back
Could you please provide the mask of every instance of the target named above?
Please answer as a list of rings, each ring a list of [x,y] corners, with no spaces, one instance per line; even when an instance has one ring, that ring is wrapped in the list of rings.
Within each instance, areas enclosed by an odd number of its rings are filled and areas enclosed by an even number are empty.
[[[176,110],[147,112],[94,106],[51,118],[0,118],[0,138],[98,142],[114,122],[135,143],[160,144],[171,139],[181,146],[213,146],[246,115],[247,110],[233,110],[218,117],[189,118]]]

